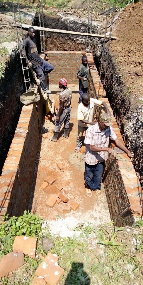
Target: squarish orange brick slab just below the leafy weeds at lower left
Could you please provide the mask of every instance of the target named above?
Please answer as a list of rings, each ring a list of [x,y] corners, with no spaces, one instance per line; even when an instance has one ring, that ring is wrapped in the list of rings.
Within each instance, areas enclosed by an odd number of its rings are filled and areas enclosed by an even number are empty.
[[[37,238],[31,236],[16,236],[13,243],[13,251],[22,251],[29,257],[35,258],[37,248]]]

